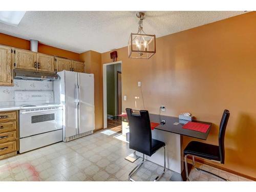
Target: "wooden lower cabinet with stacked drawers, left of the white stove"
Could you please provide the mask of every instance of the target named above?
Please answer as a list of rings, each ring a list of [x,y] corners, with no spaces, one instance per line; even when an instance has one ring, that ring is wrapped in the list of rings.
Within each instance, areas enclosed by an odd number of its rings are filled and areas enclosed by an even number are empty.
[[[0,159],[19,150],[18,111],[0,112]]]

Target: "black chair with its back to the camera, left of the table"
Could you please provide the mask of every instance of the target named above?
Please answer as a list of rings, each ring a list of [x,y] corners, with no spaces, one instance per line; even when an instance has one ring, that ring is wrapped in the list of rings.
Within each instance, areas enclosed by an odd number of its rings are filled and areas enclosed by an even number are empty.
[[[150,116],[148,111],[141,110],[139,113],[133,113],[132,109],[126,109],[127,118],[129,120],[130,128],[130,143],[129,147],[133,150],[143,154],[142,163],[137,165],[129,174],[129,179],[134,181],[131,177],[144,163],[144,156],[152,156],[161,147],[164,148],[164,169],[163,172],[156,177],[154,181],[158,181],[165,172],[165,143],[156,139],[152,139]]]

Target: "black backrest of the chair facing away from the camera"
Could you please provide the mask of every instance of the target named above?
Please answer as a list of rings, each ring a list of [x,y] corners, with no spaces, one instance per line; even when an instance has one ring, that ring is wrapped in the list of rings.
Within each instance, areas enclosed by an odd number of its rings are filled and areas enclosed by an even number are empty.
[[[133,150],[151,156],[152,134],[148,111],[140,110],[139,114],[132,109],[125,109],[129,120],[130,143]]]

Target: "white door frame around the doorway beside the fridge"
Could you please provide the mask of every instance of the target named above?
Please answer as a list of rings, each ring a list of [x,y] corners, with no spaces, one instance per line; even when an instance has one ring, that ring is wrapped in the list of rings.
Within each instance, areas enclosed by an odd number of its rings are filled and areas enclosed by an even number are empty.
[[[121,72],[122,72],[122,61],[115,61],[115,62],[108,62],[103,64],[103,129],[106,129],[108,127],[108,120],[107,120],[107,100],[106,100],[106,66],[114,65],[120,63],[121,64]],[[123,81],[122,81],[122,87],[123,87]],[[122,100],[123,105],[123,100]]]

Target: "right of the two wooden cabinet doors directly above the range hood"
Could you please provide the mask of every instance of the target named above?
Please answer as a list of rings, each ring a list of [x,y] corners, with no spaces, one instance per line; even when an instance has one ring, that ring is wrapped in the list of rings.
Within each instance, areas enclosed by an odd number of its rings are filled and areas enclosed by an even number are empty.
[[[46,71],[54,73],[54,56],[37,53],[38,71]]]

